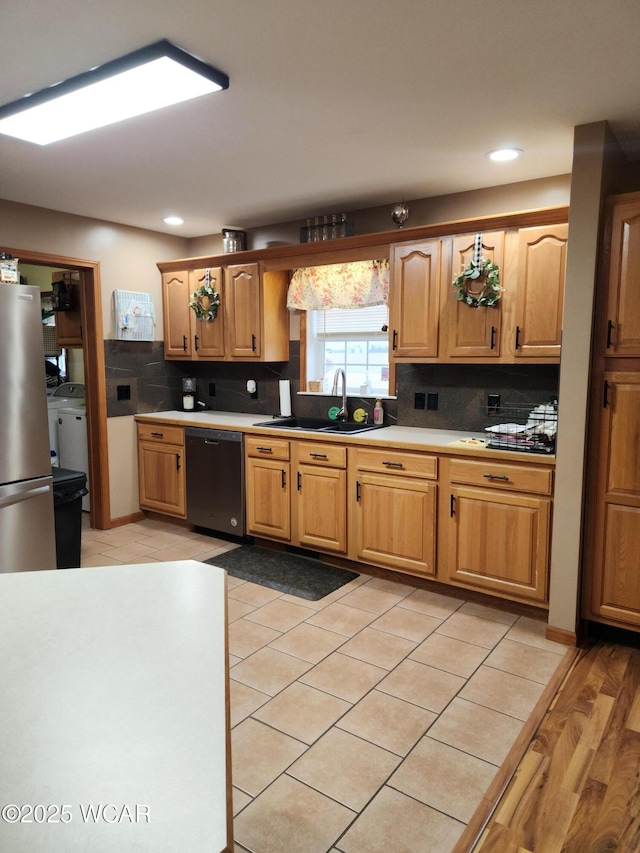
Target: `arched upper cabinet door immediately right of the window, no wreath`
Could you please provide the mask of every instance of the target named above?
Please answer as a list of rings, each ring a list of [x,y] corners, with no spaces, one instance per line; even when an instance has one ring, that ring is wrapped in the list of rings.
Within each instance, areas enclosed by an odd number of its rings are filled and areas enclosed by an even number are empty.
[[[391,247],[392,354],[396,358],[438,356],[442,242]]]

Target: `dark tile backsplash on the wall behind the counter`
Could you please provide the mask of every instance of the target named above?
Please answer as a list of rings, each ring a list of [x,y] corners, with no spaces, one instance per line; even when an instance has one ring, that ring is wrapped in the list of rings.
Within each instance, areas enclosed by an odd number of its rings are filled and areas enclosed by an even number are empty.
[[[336,398],[300,395],[300,349],[290,342],[288,362],[165,361],[162,341],[105,341],[107,416],[179,409],[182,379],[196,379],[198,400],[211,410],[278,415],[278,380],[291,382],[293,413],[323,417]],[[384,400],[385,420],[400,426],[481,431],[486,426],[489,394],[502,405],[526,408],[557,398],[558,365],[399,364],[397,400]],[[247,380],[256,382],[255,399]],[[437,394],[438,408],[416,409],[416,394]],[[127,398],[128,397],[128,398]],[[361,406],[373,415],[371,397],[349,397],[349,410]]]

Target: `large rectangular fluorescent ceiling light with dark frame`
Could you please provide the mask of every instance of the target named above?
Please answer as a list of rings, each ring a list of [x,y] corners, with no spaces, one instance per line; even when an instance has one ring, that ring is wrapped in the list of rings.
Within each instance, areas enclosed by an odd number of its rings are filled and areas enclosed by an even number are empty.
[[[228,87],[165,39],[0,107],[0,133],[48,145]]]

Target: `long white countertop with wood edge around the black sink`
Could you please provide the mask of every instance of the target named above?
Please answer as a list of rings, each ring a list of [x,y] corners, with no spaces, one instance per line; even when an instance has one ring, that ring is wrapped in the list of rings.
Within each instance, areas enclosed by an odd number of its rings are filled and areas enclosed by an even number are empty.
[[[136,420],[174,423],[181,426],[200,426],[212,429],[230,429],[242,432],[264,433],[282,438],[315,441],[338,441],[342,444],[372,445],[379,447],[405,448],[412,450],[442,452],[447,450],[456,455],[481,455],[494,459],[522,460],[528,463],[555,464],[555,456],[546,453],[523,453],[513,450],[487,449],[484,433],[463,430],[429,429],[428,427],[385,426],[384,429],[369,430],[356,435],[308,432],[296,429],[269,429],[257,427],[257,423],[268,421],[269,415],[243,412],[149,412],[136,415]]]

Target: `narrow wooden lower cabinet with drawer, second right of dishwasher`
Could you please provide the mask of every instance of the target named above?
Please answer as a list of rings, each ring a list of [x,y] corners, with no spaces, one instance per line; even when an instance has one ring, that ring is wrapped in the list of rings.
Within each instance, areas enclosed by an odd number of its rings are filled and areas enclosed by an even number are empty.
[[[298,442],[294,459],[293,541],[305,548],[346,554],[346,447]]]

